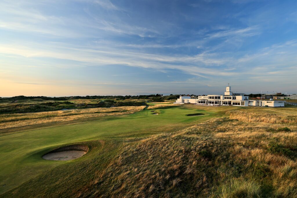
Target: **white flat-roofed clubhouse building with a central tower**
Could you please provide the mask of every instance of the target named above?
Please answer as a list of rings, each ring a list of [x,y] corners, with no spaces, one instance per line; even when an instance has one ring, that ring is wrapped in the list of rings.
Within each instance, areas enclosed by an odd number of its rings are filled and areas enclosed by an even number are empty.
[[[228,84],[224,95],[207,95],[198,96],[198,99],[190,96],[180,96],[175,104],[201,104],[201,105],[234,105],[234,106],[258,106],[258,107],[285,107],[285,101],[273,100],[249,100],[249,96],[244,96],[244,93],[233,93]]]

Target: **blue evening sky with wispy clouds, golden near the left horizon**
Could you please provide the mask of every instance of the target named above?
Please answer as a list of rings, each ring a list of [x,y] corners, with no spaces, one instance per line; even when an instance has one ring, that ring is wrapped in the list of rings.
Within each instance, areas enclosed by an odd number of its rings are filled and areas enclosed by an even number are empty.
[[[296,94],[297,1],[1,0],[0,97]]]

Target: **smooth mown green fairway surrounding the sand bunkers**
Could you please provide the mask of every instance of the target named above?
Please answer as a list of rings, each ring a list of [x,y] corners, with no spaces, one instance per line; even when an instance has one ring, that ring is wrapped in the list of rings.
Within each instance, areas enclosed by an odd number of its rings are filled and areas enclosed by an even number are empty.
[[[76,163],[92,157],[94,148],[90,145],[89,153],[74,161],[49,161],[42,159],[45,153],[63,145],[91,141],[111,140],[122,142],[129,137],[146,137],[166,132],[179,125],[198,120],[206,120],[214,115],[204,110],[185,107],[156,109],[159,115],[150,110],[135,114],[109,116],[105,120],[77,123],[66,126],[48,127],[46,129],[14,132],[0,137],[0,193],[8,191],[56,166],[65,163]],[[186,116],[203,112],[205,116]],[[162,128],[159,128],[162,127]],[[98,149],[98,148],[97,148]],[[93,151],[92,151],[93,150]],[[6,186],[2,186],[6,185]]]

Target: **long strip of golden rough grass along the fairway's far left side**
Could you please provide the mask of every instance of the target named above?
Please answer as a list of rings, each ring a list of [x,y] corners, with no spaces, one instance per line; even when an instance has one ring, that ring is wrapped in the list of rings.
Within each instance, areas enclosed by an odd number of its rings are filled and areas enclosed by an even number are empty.
[[[62,123],[66,121],[75,121],[85,118],[96,118],[102,116],[125,115],[141,111],[146,106],[132,107],[110,107],[110,108],[91,108],[47,111],[37,113],[15,113],[0,115],[0,129],[9,129],[13,127],[38,125],[45,123]]]

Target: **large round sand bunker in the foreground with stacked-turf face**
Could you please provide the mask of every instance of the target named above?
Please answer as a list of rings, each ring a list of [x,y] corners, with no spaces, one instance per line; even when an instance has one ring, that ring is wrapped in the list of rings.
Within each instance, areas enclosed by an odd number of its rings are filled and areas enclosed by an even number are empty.
[[[43,159],[48,160],[72,160],[77,159],[89,151],[89,147],[86,145],[69,145],[61,148],[57,148],[42,156]]]

